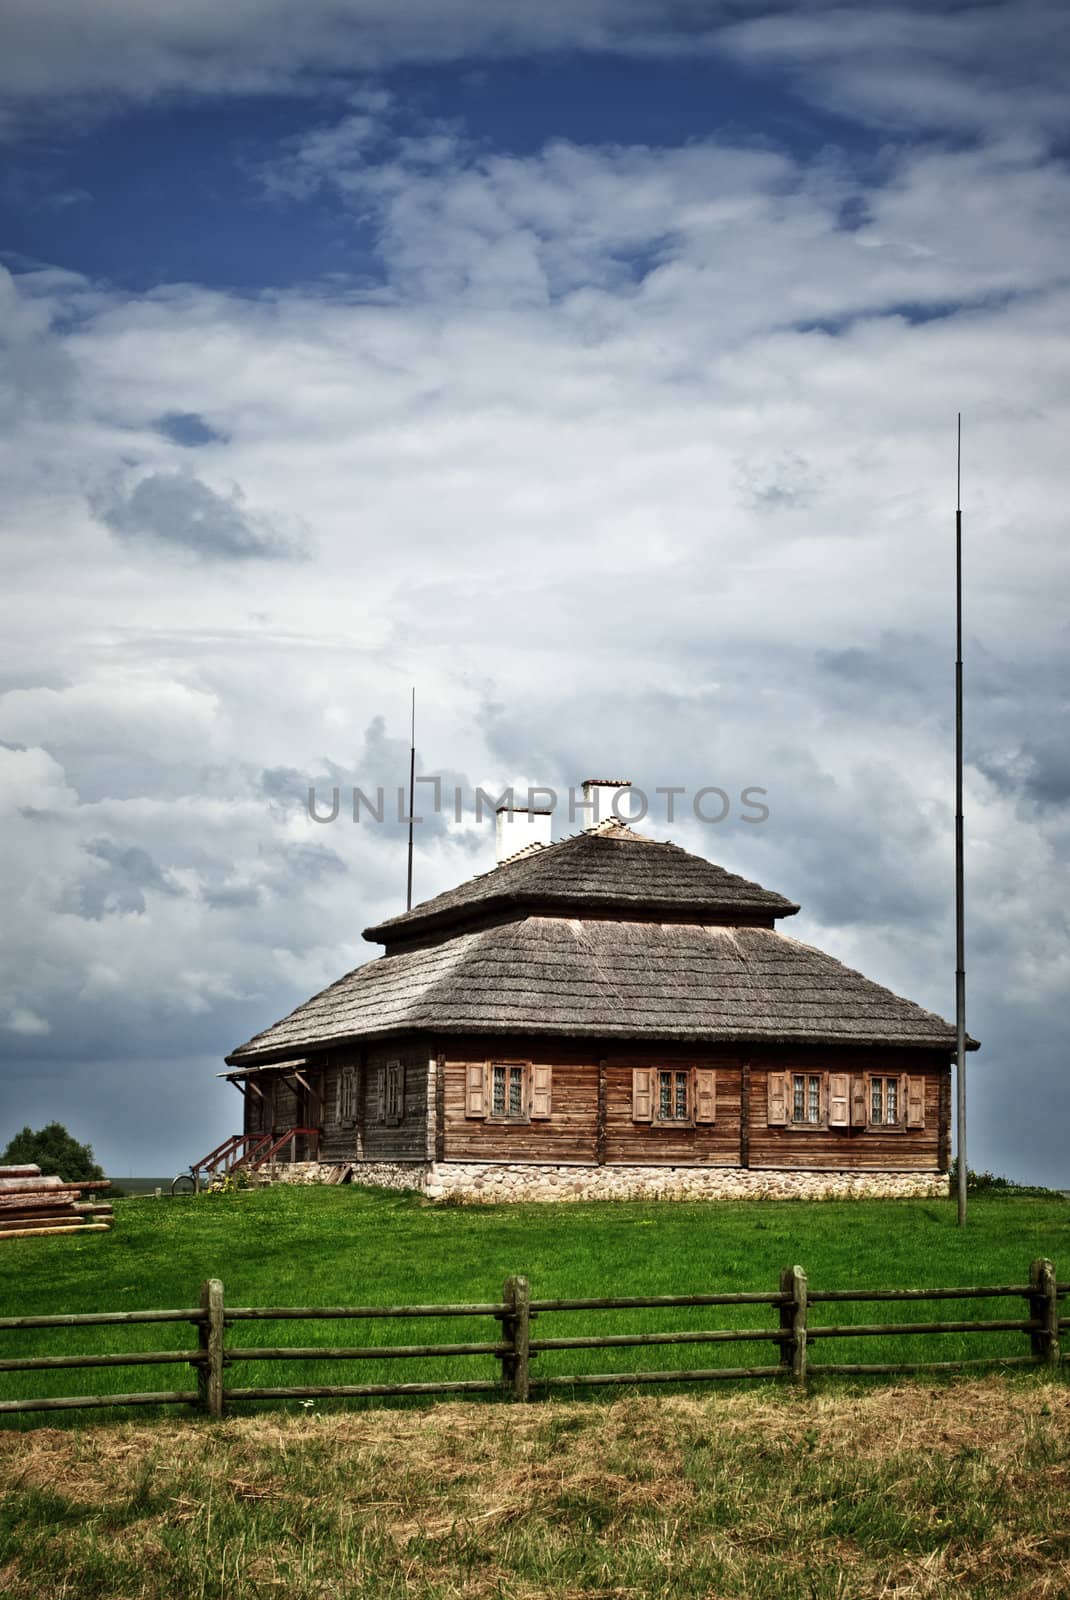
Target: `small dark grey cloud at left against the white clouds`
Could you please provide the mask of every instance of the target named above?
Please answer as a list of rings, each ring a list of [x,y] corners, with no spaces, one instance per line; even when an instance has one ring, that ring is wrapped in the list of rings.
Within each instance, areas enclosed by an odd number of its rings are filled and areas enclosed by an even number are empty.
[[[94,515],[120,539],[157,539],[205,562],[296,560],[302,552],[234,490],[216,494],[190,472],[152,472],[133,488],[99,491]]]

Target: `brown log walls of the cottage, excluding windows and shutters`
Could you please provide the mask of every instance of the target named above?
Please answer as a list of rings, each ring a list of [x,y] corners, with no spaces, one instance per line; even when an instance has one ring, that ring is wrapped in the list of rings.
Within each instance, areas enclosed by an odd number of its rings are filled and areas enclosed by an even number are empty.
[[[379,1069],[403,1066],[403,1115],[385,1122]],[[528,1090],[549,1069],[549,1115],[520,1122],[469,1115],[469,1074],[525,1062]],[[637,1122],[637,1067],[694,1067],[717,1074],[715,1118],[689,1125]],[[547,1166],[742,1168],[782,1171],[942,1173],[950,1158],[950,1061],[934,1050],[857,1046],[651,1048],[646,1043],[545,1038],[408,1037],[310,1056],[301,1069],[317,1094],[309,1102],[286,1074],[264,1072],[275,1131],[312,1104],[321,1120],[321,1162],[496,1162]],[[924,1080],[924,1128],[873,1130],[771,1126],[769,1074],[907,1074]],[[339,1080],[355,1082],[350,1117],[339,1120]],[[317,1101],[320,1104],[317,1104]],[[246,1096],[246,1130],[254,1126]],[[304,1104],[302,1104],[304,1102]]]

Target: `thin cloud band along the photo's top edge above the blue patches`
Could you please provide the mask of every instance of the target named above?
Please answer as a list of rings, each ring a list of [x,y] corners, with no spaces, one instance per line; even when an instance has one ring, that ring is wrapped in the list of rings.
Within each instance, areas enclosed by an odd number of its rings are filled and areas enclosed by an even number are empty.
[[[1065,130],[1059,0],[934,8],[822,0],[6,0],[0,91],[19,133],[163,96],[350,90],[411,62],[560,51],[729,58],[824,109],[889,128]],[[341,136],[341,130],[339,130]],[[345,138],[361,144],[360,117]],[[296,170],[294,174],[296,176]]]

